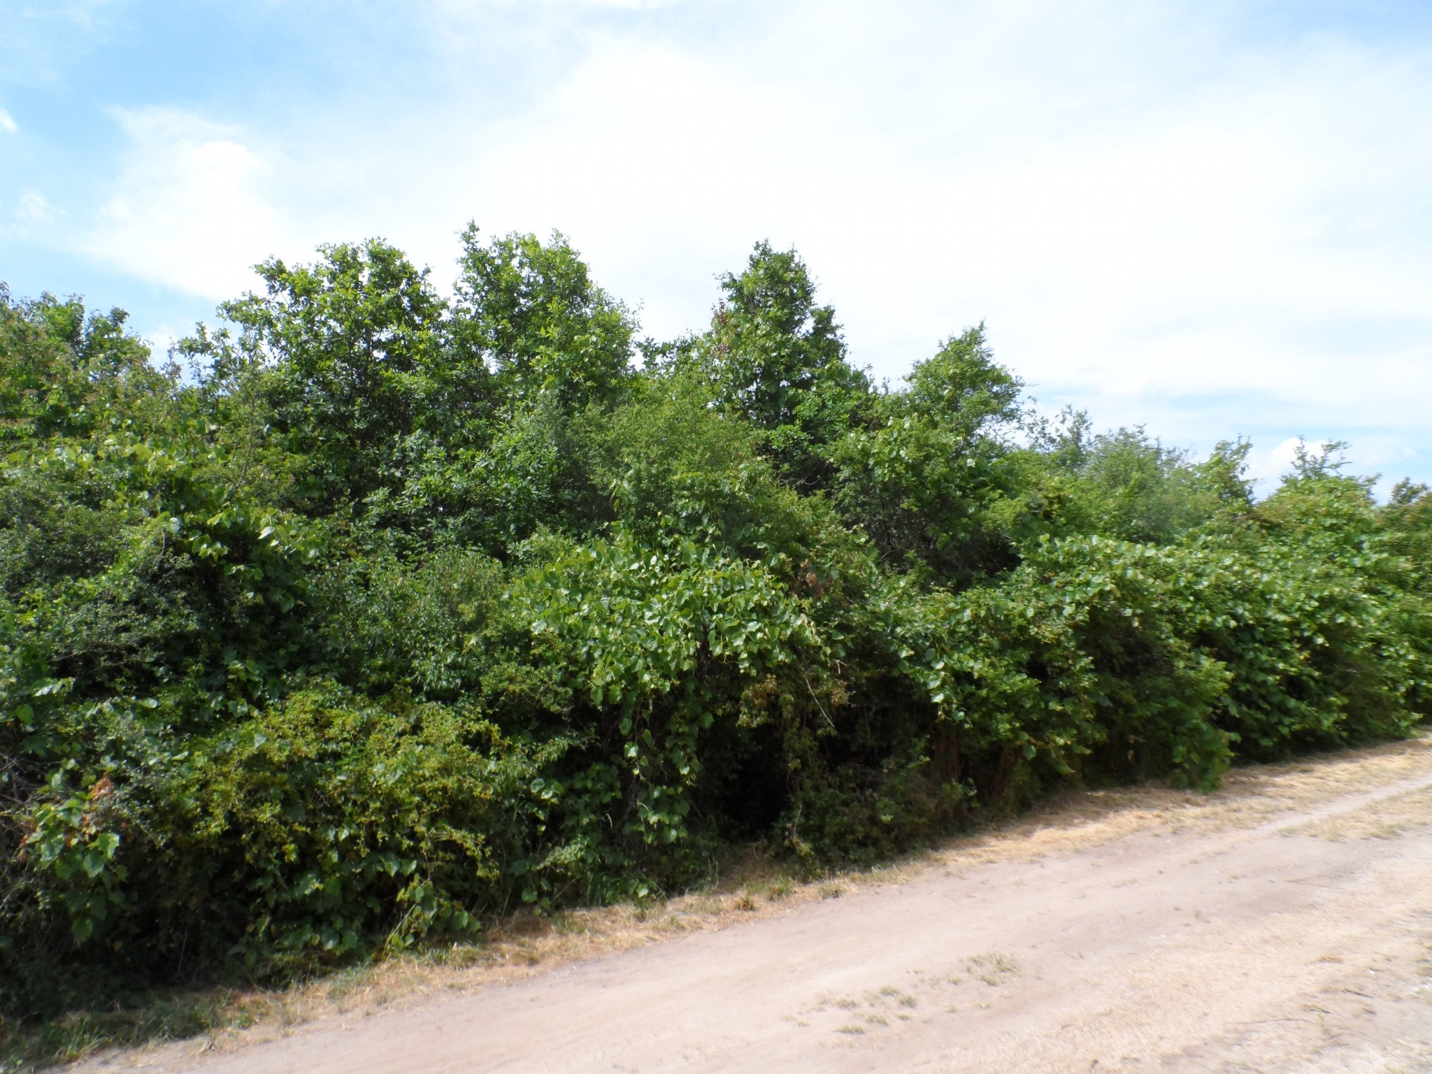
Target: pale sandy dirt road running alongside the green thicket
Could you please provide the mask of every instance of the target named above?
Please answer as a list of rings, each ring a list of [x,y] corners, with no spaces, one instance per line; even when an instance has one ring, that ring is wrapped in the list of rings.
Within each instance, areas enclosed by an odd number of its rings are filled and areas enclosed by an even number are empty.
[[[1081,795],[898,882],[465,988],[86,1068],[1432,1071],[1432,749]]]

